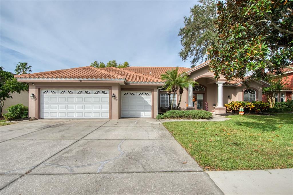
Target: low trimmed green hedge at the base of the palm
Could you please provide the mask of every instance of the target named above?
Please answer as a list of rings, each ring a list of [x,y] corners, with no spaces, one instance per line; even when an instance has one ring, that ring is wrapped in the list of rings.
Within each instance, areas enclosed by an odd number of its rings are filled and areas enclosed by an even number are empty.
[[[169,110],[158,114],[156,119],[208,119],[212,113],[205,110]]]

